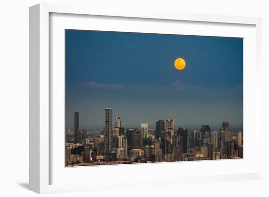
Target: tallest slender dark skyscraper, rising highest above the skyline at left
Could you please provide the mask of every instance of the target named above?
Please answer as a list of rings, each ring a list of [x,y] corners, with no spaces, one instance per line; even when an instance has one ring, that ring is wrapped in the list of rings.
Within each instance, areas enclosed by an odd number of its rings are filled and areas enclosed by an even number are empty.
[[[112,109],[105,108],[105,158],[109,158],[112,153]]]

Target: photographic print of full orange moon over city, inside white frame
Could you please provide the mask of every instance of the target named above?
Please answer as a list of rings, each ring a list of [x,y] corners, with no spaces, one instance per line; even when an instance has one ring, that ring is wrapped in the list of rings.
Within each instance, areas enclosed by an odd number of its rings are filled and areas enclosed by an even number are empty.
[[[66,29],[66,167],[243,158],[243,38]]]

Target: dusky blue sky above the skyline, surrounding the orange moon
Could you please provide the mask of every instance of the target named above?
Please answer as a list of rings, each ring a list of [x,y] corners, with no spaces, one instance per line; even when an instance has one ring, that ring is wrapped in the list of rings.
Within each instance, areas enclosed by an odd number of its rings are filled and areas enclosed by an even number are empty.
[[[177,70],[174,61],[186,67]],[[104,108],[123,127],[243,125],[243,39],[66,30],[66,126],[104,126]]]

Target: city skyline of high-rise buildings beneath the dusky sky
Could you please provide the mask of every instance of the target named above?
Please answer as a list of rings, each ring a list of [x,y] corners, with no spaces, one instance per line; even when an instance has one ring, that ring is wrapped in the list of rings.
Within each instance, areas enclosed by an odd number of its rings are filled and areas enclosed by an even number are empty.
[[[170,111],[169,111],[170,112]],[[79,111],[74,111],[74,132],[66,133],[66,166],[175,162],[243,158],[243,131],[230,132],[226,117],[220,131],[202,125],[200,131],[175,128],[169,117],[137,128],[122,128],[121,118],[105,108],[105,128],[94,136],[79,129]]]

